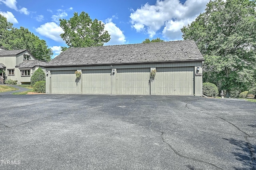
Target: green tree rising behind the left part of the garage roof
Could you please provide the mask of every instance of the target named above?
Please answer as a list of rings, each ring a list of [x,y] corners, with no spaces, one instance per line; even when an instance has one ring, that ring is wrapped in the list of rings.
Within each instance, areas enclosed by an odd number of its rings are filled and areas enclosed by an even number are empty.
[[[69,20],[60,19],[60,27],[64,30],[60,37],[69,47],[102,46],[110,40],[110,35],[104,30],[104,24],[97,19],[77,12]]]

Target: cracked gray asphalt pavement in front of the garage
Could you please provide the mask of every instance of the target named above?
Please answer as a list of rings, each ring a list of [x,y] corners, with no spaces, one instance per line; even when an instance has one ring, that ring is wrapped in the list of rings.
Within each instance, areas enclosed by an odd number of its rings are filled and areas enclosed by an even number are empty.
[[[0,169],[256,169],[256,103],[196,96],[0,97]]]

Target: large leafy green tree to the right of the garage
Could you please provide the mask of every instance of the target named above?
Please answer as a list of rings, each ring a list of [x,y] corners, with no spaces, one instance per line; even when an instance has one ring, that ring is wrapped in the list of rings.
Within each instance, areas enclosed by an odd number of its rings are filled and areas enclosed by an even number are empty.
[[[204,55],[204,82],[226,90],[256,84],[256,1],[211,0],[204,13],[181,31]]]

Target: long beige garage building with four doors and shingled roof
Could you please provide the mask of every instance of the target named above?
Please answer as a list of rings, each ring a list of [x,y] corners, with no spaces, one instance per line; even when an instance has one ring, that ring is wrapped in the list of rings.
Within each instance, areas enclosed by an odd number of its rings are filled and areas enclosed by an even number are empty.
[[[192,40],[70,48],[45,66],[46,93],[201,96],[203,61]]]

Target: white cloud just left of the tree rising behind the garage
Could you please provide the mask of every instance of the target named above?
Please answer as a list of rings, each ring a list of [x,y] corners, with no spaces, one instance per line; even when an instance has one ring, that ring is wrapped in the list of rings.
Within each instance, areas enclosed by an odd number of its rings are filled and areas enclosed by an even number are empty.
[[[47,22],[41,25],[39,28],[36,28],[36,32],[56,42],[64,42],[60,37],[60,34],[64,33],[64,31],[55,22]]]

